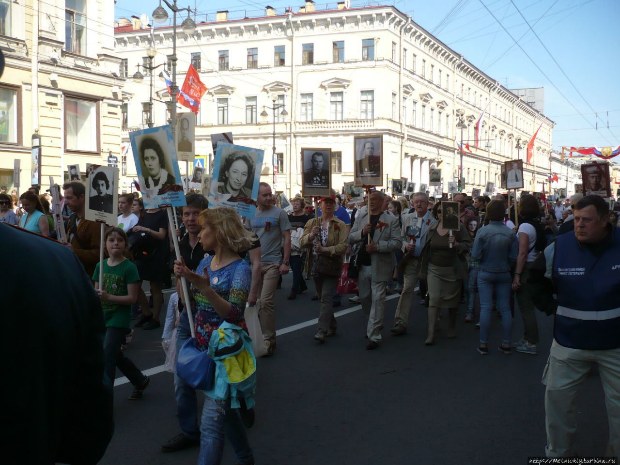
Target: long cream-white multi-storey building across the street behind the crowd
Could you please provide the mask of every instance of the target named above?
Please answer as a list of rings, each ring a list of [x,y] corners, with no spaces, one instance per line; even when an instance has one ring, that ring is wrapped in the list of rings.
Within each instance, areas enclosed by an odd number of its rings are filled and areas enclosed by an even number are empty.
[[[120,77],[126,78],[125,144],[128,131],[148,123],[146,50],[157,50],[153,66],[170,68],[172,27],[151,29],[134,19],[119,24],[115,39]],[[277,114],[275,120],[275,184],[289,195],[301,190],[302,148],[332,149],[332,185],[340,190],[353,180],[353,138],[366,135],[383,136],[384,188],[400,177],[418,187],[428,184],[429,169],[439,167],[446,192],[461,164],[458,110],[464,111],[463,141],[471,148],[463,160],[467,192],[484,192],[487,181],[498,188],[500,166],[511,159],[524,160],[524,189],[530,192],[542,190],[551,169],[555,123],[391,6],[347,9],[341,3],[337,10],[315,11],[308,1],[296,12],[268,7],[263,17],[239,20],[219,12],[190,35],[177,28],[177,57],[179,87],[190,63],[209,87],[197,118],[197,156],[211,155],[210,134],[230,131],[236,144],[265,149],[267,182],[274,180],[273,112],[267,107],[276,95],[275,105],[284,105],[288,117]],[[131,79],[138,69],[146,75],[141,83]],[[155,100],[162,100],[153,104],[159,126],[169,118],[169,95],[156,76],[154,86]],[[476,149],[474,125],[487,104]],[[266,121],[260,118],[263,105]],[[526,145],[539,126],[528,166]]]

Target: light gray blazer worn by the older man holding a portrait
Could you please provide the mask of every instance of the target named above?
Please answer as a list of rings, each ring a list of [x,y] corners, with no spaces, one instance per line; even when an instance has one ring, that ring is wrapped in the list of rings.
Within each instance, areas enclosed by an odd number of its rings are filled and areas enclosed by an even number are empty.
[[[348,243],[351,244],[355,252],[360,247],[366,246],[362,244],[362,229],[368,223],[368,211],[362,211],[360,216],[355,220],[353,228],[348,236]],[[373,242],[379,247],[377,252],[370,254],[371,273],[373,281],[389,281],[392,279],[394,270],[394,262],[392,260],[392,252],[402,246],[401,226],[396,216],[388,215],[386,212],[379,216],[379,223],[385,226],[377,228],[373,232]]]

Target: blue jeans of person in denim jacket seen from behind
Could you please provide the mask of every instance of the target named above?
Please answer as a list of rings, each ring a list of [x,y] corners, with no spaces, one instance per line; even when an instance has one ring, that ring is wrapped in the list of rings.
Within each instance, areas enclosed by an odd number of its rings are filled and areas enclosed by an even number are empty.
[[[497,307],[502,314],[502,341],[510,342],[512,316],[510,314],[510,272],[491,273],[478,272],[478,293],[480,294],[480,343],[489,340],[491,325],[491,309],[493,307],[493,291],[497,296]]]

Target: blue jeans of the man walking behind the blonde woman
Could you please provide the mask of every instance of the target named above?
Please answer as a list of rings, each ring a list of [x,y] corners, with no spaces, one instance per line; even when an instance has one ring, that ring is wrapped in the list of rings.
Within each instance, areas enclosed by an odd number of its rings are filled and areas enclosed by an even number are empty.
[[[183,343],[192,337],[190,331],[190,323],[187,318],[187,312],[183,312],[177,326],[177,352],[175,356],[179,356],[179,350]],[[176,360],[175,360],[176,361]],[[174,373],[174,396],[177,399],[177,417],[179,417],[179,425],[184,435],[190,439],[198,439],[198,402],[196,400],[196,390],[185,383],[175,371]]]

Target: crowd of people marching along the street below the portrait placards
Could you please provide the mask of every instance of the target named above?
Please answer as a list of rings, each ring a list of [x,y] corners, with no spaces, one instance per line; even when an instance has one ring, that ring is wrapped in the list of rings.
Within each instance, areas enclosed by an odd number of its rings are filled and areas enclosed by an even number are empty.
[[[53,236],[49,205],[32,189],[20,196],[20,207],[15,198],[0,194],[0,221]],[[94,282],[93,293],[99,296],[105,319],[105,336],[99,335],[102,371],[109,382],[118,367],[133,384],[130,399],[140,399],[150,383],[123,351],[134,334],[131,319],[135,328],[160,327],[162,289],[172,286],[173,274],[178,301],[171,299],[168,321],[176,327],[177,356],[192,334],[197,350],[206,352],[213,350],[213,334],[222,339],[225,329],[247,331],[246,306],[259,309],[265,355],[272,356],[277,348],[274,297],[281,276],[292,272],[288,299],[309,289],[306,280],[314,282],[317,343],[336,334],[334,308],[340,306],[343,293],[355,293],[349,300],[359,302],[365,314],[368,350],[381,346],[389,293],[400,294],[390,332],[404,335],[420,291],[421,303],[428,308],[428,346],[437,342],[441,309],[448,309],[446,337],[456,337],[458,308],[465,304],[464,322],[478,320],[481,355],[489,354],[492,312],[502,319],[498,351],[505,355],[513,350],[538,354],[536,309],[554,314],[554,342],[543,374],[546,454],[575,454],[572,405],[578,385],[593,365],[598,365],[606,397],[606,455],[620,453],[620,230],[617,215],[614,218],[601,197],[575,194],[565,206],[559,201],[547,205],[524,194],[515,208],[501,194],[492,199],[465,193],[433,198],[417,192],[393,199],[371,190],[363,203],[355,205],[335,195],[321,198],[317,205],[294,197],[293,211],[287,214],[276,205],[271,187],[260,183],[254,218],[241,218],[229,208],[210,209],[205,197],[188,193],[187,205],[179,208],[179,228],[169,231],[165,210],[144,210],[139,198],[122,194],[118,226],[105,231],[100,283],[100,228],[84,218],[84,184],[70,182],[63,190],[61,211],[68,242],[53,247],[64,262],[64,250],[70,251]],[[458,214],[444,201],[458,202]],[[444,215],[454,217],[458,229],[445,229],[449,222],[442,221]],[[174,260],[172,234],[179,238],[181,260]],[[16,244],[40,241],[17,229],[11,229],[11,235]],[[190,284],[187,296],[180,278]],[[144,281],[150,286],[150,301]],[[80,292],[82,296],[85,291]],[[92,295],[82,297],[92,307]],[[515,301],[524,330],[513,342]],[[97,348],[92,350],[97,353]],[[95,368],[91,363],[90,370]],[[216,376],[213,387],[198,389],[206,394],[199,423],[197,389],[175,373],[181,433],[162,445],[164,451],[200,445],[199,463],[217,464],[226,435],[238,463],[254,463],[246,428],[254,422],[255,381],[245,387],[222,386],[220,381]],[[109,440],[110,435],[100,432],[99,437]],[[89,454],[96,455],[97,450]]]

